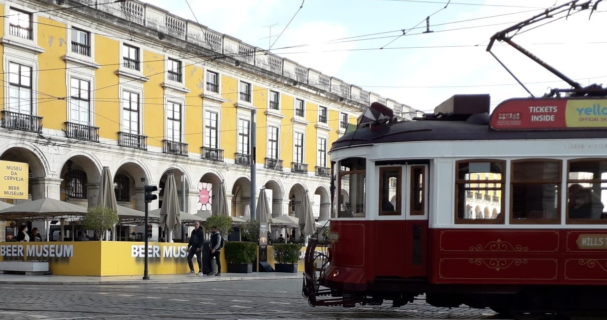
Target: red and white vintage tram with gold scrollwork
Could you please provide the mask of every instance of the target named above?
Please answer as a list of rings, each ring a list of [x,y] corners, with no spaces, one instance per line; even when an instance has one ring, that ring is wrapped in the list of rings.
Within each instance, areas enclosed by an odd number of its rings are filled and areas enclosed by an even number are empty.
[[[311,305],[607,314],[606,99],[453,96],[414,121],[375,102],[330,155]]]

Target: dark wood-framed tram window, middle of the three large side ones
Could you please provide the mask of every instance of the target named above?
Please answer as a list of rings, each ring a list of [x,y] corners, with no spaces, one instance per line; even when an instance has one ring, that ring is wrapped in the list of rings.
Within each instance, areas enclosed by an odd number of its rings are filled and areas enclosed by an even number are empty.
[[[512,223],[560,223],[561,161],[512,161]]]

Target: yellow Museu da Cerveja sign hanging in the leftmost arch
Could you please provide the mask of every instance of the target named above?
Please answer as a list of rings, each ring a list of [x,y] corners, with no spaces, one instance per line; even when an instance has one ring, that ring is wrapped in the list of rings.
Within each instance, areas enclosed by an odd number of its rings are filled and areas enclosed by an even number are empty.
[[[27,199],[29,165],[0,160],[0,198]]]

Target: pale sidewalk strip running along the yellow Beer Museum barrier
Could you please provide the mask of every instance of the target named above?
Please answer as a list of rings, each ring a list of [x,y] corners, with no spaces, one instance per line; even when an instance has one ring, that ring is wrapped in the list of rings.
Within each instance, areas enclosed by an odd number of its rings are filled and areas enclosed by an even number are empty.
[[[41,284],[41,285],[95,285],[95,284],[172,284],[232,280],[297,279],[302,273],[253,272],[222,273],[221,276],[195,275],[150,275],[149,280],[140,276],[26,276],[0,274],[0,284]]]

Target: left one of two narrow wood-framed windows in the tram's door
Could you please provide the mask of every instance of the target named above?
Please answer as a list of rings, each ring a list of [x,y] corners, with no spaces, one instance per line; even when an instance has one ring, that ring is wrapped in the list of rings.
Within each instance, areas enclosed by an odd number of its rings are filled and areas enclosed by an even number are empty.
[[[401,167],[379,168],[379,215],[401,214]]]

